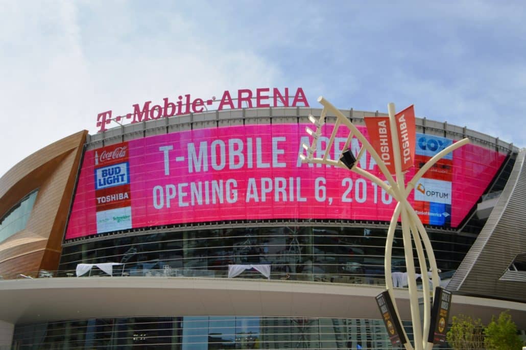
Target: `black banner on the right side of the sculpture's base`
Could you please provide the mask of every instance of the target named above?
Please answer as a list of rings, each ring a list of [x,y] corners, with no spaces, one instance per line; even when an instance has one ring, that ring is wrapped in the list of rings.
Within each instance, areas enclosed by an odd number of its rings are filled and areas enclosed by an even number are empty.
[[[431,309],[431,325],[429,326],[428,334],[429,343],[446,343],[451,296],[451,292],[441,287],[437,287],[434,292],[433,308]]]

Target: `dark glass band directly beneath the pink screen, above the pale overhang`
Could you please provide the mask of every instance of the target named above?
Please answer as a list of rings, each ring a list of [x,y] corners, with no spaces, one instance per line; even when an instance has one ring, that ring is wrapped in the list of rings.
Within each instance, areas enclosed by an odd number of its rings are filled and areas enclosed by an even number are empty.
[[[475,238],[448,231],[428,234],[442,275],[451,276]],[[59,269],[65,273],[79,263],[115,262],[124,264],[120,273],[131,276],[226,277],[230,264],[270,264],[272,279],[383,284],[386,236],[387,228],[292,226],[117,236],[65,246]],[[401,232],[396,232],[392,271],[404,272],[405,266]],[[103,272],[92,271],[97,273]],[[262,276],[246,271],[239,277]]]

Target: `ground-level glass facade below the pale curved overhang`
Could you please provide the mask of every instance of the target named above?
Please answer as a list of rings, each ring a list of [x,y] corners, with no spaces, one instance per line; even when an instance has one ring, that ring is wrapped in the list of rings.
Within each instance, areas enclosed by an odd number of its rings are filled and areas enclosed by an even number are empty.
[[[410,332],[408,323],[404,323]],[[408,333],[408,337],[411,334]],[[17,325],[14,349],[391,349],[380,319],[184,316]]]

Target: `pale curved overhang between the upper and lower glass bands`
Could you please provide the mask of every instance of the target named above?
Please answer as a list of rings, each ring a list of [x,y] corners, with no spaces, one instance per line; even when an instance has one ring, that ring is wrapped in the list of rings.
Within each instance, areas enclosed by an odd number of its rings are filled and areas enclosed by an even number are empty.
[[[379,318],[383,286],[185,277],[69,277],[0,282],[0,319],[33,323],[128,316],[292,316]],[[402,319],[410,319],[407,289],[396,289]],[[489,322],[510,310],[526,328],[526,304],[453,296],[451,314]]]

